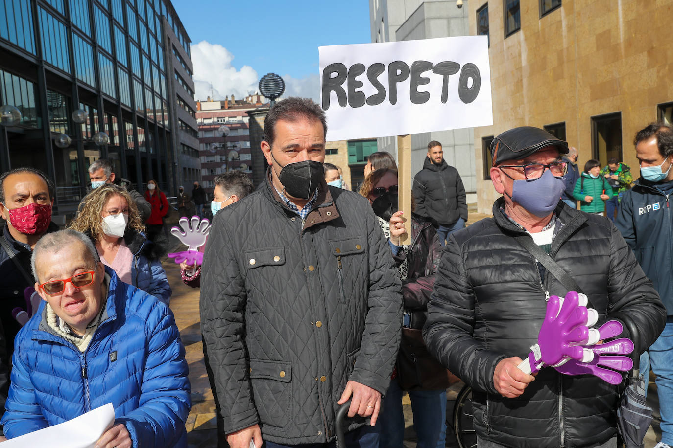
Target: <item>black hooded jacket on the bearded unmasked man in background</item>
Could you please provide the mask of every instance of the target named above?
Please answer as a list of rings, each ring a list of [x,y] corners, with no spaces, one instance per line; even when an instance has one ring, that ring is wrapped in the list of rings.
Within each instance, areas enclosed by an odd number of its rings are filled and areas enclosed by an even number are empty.
[[[427,216],[443,226],[467,221],[465,188],[458,170],[442,160],[439,167],[425,158],[423,169],[416,173],[413,186],[416,213]]]

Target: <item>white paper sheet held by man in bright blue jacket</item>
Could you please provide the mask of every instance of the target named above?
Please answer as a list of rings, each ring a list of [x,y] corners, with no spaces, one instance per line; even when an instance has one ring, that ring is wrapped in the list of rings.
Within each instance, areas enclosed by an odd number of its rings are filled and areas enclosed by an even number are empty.
[[[9,439],[0,447],[94,448],[113,423],[114,406],[108,403],[67,422]]]

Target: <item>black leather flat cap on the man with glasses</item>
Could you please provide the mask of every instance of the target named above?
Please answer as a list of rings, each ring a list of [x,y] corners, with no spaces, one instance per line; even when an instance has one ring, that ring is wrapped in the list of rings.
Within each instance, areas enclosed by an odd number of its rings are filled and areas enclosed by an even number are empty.
[[[533,126],[521,126],[503,132],[491,142],[491,159],[496,167],[504,161],[523,159],[545,146],[556,146],[561,154],[568,153],[568,143]]]

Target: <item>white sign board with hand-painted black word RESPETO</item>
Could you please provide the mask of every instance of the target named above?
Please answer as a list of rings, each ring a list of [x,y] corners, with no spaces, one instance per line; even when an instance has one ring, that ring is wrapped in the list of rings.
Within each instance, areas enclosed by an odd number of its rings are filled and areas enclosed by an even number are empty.
[[[487,36],[321,46],[327,140],[491,126]]]

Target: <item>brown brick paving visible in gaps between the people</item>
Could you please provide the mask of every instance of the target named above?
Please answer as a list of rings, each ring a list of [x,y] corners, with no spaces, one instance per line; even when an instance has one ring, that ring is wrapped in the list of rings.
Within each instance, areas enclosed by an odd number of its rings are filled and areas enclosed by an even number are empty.
[[[477,214],[476,209],[469,208],[468,225],[487,218],[489,215]],[[171,238],[173,238],[171,236]],[[176,244],[179,244],[177,240]],[[176,245],[176,250],[180,245]],[[211,392],[208,377],[203,363],[203,349],[201,345],[201,327],[199,324],[199,288],[191,288],[184,285],[180,280],[180,269],[172,259],[164,260],[164,269],[168,275],[168,281],[173,289],[171,308],[175,314],[176,323],[180,329],[180,337],[186,350],[186,360],[189,365],[189,379],[192,386],[192,410],[186,422],[188,447],[209,448],[217,446],[215,431],[215,402]],[[447,415],[453,410],[454,400],[460,391],[462,383],[454,384],[447,391]],[[658,420],[658,397],[656,386],[651,378],[647,401],[655,409],[655,421],[645,437],[645,447],[651,448],[656,445],[657,439],[661,438]],[[413,431],[413,416],[408,397],[404,397],[404,448],[416,447],[416,435]],[[447,428],[446,446],[458,447],[452,433],[452,428]]]

